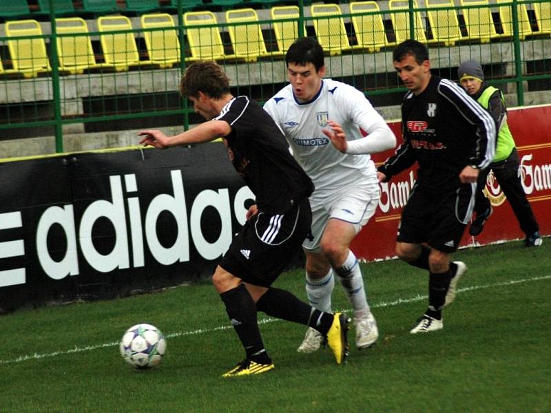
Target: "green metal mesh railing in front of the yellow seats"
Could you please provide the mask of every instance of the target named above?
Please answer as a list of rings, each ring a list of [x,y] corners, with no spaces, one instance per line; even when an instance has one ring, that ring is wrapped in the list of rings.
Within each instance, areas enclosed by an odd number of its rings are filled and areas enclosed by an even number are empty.
[[[407,18],[409,24],[406,30],[410,38],[415,38],[419,34],[416,31],[417,17],[419,17],[422,25],[419,29],[422,29],[422,34],[426,36],[426,39],[419,40],[428,44],[433,69],[439,71],[441,76],[457,80],[455,71],[459,63],[466,59],[475,59],[481,61],[488,70],[486,76],[488,81],[510,88],[508,92],[517,95],[519,105],[524,104],[526,91],[551,90],[551,55],[548,53],[551,49],[551,29],[549,29],[551,22],[548,21],[551,20],[551,14],[549,16],[545,14],[546,10],[549,10],[549,0],[511,0],[507,3],[492,3],[489,6],[465,5],[439,8],[415,8],[413,0],[408,0],[409,7],[404,10],[381,7],[381,10],[354,14],[345,10],[342,15],[336,17],[312,16],[308,12],[309,6],[304,6],[302,0],[297,3],[299,16],[278,20],[278,24],[298,21],[300,35],[314,35],[322,39],[321,35],[315,32],[315,23],[329,23],[334,19],[342,19],[349,43],[345,43],[342,49],[328,54],[326,66],[329,76],[340,78],[363,90],[375,101],[375,105],[398,103],[397,95],[405,90],[393,72],[391,57],[399,37],[398,17]],[[388,5],[386,1],[379,4]],[[343,6],[342,3],[341,6]],[[247,7],[246,4],[243,5],[243,8],[245,7]],[[50,0],[50,8],[54,10],[52,0]],[[435,20],[436,17],[433,18],[436,12],[444,14],[449,10],[453,12],[451,15],[455,14],[458,17],[457,29],[452,27],[452,25],[455,26],[455,21],[448,21],[448,27],[443,28]],[[486,15],[490,10],[492,20],[477,24],[491,24],[491,32],[495,31],[491,38],[472,36],[471,31],[477,30],[469,28],[469,22],[466,21],[467,14],[472,10],[479,10],[481,14],[484,12]],[[512,17],[510,22],[507,21],[505,10],[510,12]],[[179,125],[187,128],[189,123],[194,121],[194,115],[187,101],[179,97],[177,91],[181,73],[186,65],[196,59],[191,52],[192,45],[189,38],[193,30],[214,30],[220,34],[224,54],[218,56],[217,60],[225,66],[235,93],[249,94],[261,102],[267,100],[286,83],[284,50],[278,51],[278,39],[275,38],[273,30],[275,21],[267,19],[266,13],[262,14],[258,22],[252,23],[227,23],[221,19],[222,12],[216,15],[220,17],[216,24],[185,25],[183,0],[180,0],[178,13],[174,17],[176,19],[174,28],[144,30],[136,20],[132,30],[112,32],[90,30],[84,34],[65,34],[57,32],[57,22],[52,14],[49,25],[48,22],[42,24],[44,28],[51,29],[45,30],[44,34],[1,36],[0,58],[3,70],[0,71],[2,76],[0,78],[0,138],[10,138],[13,131],[17,129],[25,131],[43,129],[44,133],[55,135],[55,151],[62,152],[64,128],[70,125],[83,125],[81,129],[94,129],[94,124],[126,125],[129,120],[135,120],[134,125],[141,127],[144,118],[158,119],[158,124],[164,123],[168,118],[174,123],[174,118],[177,118]],[[362,18],[382,20],[384,36],[379,37],[384,39],[384,44],[376,47],[362,44],[361,35],[366,33],[357,32],[354,22],[354,19]],[[526,25],[526,19],[529,26]],[[89,20],[88,23],[92,25],[94,20]],[[510,27],[505,27],[508,23]],[[257,24],[262,28],[264,36],[262,42],[272,53],[263,56],[236,57],[234,51],[238,45],[232,43],[229,31],[232,28],[253,28]],[[306,27],[305,33],[304,27]],[[530,28],[529,32],[527,27]],[[459,30],[459,35],[455,36],[455,39],[445,39],[439,37],[439,29],[446,32],[452,29]],[[124,70],[105,70],[105,68],[87,70],[79,74],[67,73],[60,69],[60,51],[57,50],[56,42],[58,38],[74,37],[76,39],[79,36],[89,36],[94,56],[101,61],[105,53],[98,40],[101,36],[132,33],[141,59],[144,61],[149,57],[144,46],[146,32],[150,34],[163,32],[167,36],[176,32],[180,43],[179,62],[162,68],[149,64],[127,67]],[[375,35],[375,33],[369,34]],[[337,36],[337,33],[334,35]],[[17,62],[15,62],[17,56],[13,55],[14,51],[17,51],[19,45],[34,41],[44,42],[47,45],[50,70],[34,73],[17,69]],[[38,57],[35,54],[27,57],[31,60],[34,58]],[[105,60],[105,55],[103,59]]]

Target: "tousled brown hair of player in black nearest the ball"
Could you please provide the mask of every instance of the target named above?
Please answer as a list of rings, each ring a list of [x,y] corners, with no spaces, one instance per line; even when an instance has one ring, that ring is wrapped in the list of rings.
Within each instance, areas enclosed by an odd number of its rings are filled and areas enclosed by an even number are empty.
[[[188,98],[198,98],[199,92],[215,99],[229,93],[228,76],[215,61],[197,61],[187,67],[180,81],[180,93]]]

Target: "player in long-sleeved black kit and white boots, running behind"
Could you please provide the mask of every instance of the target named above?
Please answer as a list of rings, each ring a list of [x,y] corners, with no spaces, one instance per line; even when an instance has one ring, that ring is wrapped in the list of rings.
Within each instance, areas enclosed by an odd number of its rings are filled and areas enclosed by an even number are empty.
[[[406,40],[393,65],[409,89],[402,103],[404,143],[378,168],[380,182],[417,162],[417,181],[399,224],[396,254],[429,271],[428,308],[410,332],[443,328],[442,308],[455,299],[467,269],[450,262],[475,205],[479,169],[495,152],[492,117],[455,83],[430,73],[427,48]]]

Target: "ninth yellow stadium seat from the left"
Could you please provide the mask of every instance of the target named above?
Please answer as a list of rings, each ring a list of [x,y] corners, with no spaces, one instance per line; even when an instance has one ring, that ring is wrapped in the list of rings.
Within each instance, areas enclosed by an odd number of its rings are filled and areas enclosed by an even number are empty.
[[[350,3],[352,25],[356,35],[357,45],[369,52],[378,52],[382,47],[394,45],[388,42],[384,30],[382,14],[364,14],[380,12],[376,1],[353,1]]]

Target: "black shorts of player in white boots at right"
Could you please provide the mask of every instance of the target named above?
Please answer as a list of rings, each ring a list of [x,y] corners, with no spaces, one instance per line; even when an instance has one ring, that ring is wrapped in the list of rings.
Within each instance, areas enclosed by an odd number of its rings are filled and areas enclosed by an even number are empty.
[[[461,184],[447,191],[430,191],[415,184],[402,211],[397,241],[426,242],[438,251],[453,253],[475,207],[476,191],[477,184]]]

